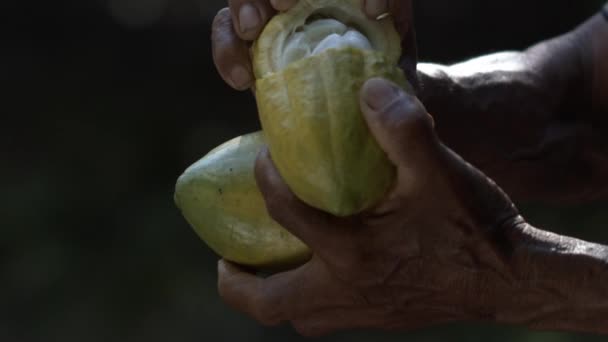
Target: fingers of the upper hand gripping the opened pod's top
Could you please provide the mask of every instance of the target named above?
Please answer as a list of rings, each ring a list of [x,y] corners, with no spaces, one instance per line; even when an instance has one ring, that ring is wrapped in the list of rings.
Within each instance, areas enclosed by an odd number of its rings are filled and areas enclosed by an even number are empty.
[[[213,60],[222,78],[237,90],[249,89],[254,82],[249,46],[277,11],[291,8],[298,0],[230,0],[213,21]],[[410,83],[417,85],[416,38],[412,24],[411,0],[365,0],[363,10],[370,20],[391,13],[402,37],[401,60]]]

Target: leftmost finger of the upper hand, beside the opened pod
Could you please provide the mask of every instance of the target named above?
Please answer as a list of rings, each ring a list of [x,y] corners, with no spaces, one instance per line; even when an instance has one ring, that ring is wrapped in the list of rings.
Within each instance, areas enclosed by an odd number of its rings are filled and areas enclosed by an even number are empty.
[[[234,31],[228,8],[215,16],[211,42],[213,62],[224,81],[237,90],[251,87],[253,73],[247,43]]]

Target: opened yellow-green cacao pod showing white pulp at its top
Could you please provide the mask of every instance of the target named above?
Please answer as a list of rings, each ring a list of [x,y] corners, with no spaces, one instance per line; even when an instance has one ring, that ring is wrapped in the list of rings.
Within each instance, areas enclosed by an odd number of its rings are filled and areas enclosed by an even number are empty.
[[[292,191],[337,216],[365,210],[394,182],[359,91],[372,77],[408,87],[390,19],[361,0],[304,0],[275,16],[253,47],[256,100],[273,161]]]

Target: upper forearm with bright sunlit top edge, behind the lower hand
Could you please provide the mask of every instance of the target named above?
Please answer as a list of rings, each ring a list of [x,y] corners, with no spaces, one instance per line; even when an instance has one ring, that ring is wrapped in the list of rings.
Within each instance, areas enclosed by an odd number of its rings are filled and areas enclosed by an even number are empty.
[[[524,52],[421,64],[420,97],[442,140],[517,200],[606,197],[608,81],[598,75],[608,73],[591,62],[608,60],[606,26],[597,15]]]

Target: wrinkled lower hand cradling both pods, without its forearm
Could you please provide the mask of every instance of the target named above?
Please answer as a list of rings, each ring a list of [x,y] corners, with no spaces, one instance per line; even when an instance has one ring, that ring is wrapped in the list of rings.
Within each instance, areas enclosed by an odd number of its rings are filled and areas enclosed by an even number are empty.
[[[415,97],[373,79],[361,107],[398,170],[386,200],[360,215],[330,216],[298,200],[262,152],[256,177],[268,211],[314,257],[266,279],[220,261],[221,296],[263,324],[290,321],[303,335],[493,317],[495,285],[511,277],[507,235],[517,210],[438,140]]]

